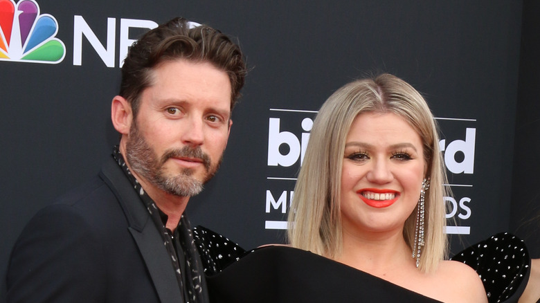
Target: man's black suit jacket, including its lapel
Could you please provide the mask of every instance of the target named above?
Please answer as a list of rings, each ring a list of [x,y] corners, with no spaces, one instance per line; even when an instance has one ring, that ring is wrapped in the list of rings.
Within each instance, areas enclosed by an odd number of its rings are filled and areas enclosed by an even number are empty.
[[[159,230],[112,157],[59,202],[17,240],[8,302],[181,302]]]

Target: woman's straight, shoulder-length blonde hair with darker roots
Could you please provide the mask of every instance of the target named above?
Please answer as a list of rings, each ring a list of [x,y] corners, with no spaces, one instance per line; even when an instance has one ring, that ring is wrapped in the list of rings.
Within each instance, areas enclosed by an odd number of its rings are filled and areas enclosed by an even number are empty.
[[[443,196],[447,183],[439,149],[438,127],[422,95],[394,75],[383,74],[345,84],[318,111],[309,137],[294,199],[289,210],[292,246],[335,259],[341,255],[341,169],[345,139],[361,113],[395,113],[422,138],[426,177],[425,223],[420,270],[433,272],[447,256]],[[420,186],[420,185],[419,185]],[[420,197],[419,197],[420,198]],[[413,248],[417,211],[406,219],[404,239]]]

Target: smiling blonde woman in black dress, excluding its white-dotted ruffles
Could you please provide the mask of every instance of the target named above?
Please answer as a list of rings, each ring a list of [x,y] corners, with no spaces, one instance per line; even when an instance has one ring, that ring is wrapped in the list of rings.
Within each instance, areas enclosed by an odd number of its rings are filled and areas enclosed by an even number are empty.
[[[251,252],[208,277],[210,295],[215,302],[487,302],[474,270],[444,261],[438,141],[426,102],[403,80],[384,74],[343,86],[314,121],[289,210],[292,248]]]

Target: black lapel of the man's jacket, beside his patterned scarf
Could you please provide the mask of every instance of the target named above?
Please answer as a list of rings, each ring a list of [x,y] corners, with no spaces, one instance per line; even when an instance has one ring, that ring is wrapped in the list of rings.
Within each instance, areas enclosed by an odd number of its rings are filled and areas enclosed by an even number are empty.
[[[111,159],[102,167],[100,176],[111,187],[124,210],[129,232],[141,251],[159,299],[163,303],[182,302],[183,293],[178,285],[170,255],[163,245],[163,238],[124,172]]]

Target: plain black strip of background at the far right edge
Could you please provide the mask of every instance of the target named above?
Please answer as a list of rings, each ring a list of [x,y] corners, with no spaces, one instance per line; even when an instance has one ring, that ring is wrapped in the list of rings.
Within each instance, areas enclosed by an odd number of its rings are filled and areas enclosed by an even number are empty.
[[[540,257],[540,2],[523,4],[510,230]],[[510,165],[505,163],[504,165]]]

